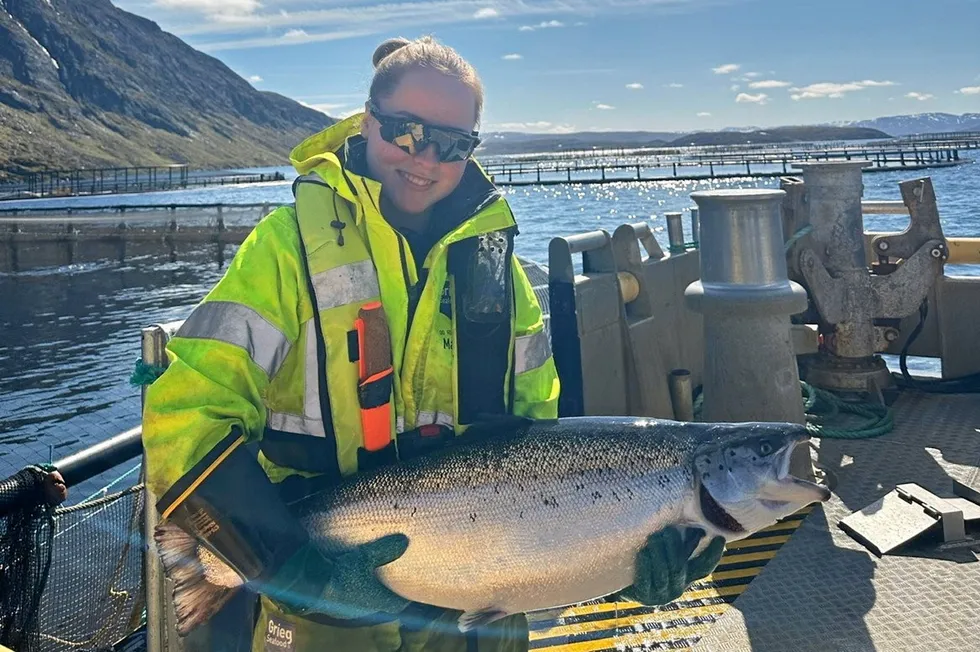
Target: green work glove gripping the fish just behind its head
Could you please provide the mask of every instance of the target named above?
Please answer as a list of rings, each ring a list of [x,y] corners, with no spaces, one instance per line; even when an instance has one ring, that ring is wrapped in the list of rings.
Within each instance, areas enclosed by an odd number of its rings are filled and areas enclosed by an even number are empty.
[[[725,539],[715,537],[693,559],[705,531],[688,528],[687,534],[671,526],[647,537],[636,557],[634,581],[619,592],[627,600],[655,606],[676,600],[694,582],[709,575],[725,552]]]

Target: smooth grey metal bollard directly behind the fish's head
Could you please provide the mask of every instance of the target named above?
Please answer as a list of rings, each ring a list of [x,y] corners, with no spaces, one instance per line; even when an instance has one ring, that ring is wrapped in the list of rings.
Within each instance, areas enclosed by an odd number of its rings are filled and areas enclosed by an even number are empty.
[[[786,275],[785,194],[691,195],[701,221],[701,279],[684,294],[704,315],[702,421],[804,423],[789,317],[806,309],[807,297]]]

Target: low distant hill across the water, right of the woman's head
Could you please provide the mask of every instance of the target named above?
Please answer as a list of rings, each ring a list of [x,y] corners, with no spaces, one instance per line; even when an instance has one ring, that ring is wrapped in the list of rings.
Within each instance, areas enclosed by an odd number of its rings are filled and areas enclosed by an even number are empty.
[[[560,152],[592,148],[687,147],[690,145],[743,145],[812,142],[819,140],[861,140],[889,138],[877,129],[858,127],[775,127],[755,131],[595,131],[571,134],[490,133],[485,136],[480,155]]]

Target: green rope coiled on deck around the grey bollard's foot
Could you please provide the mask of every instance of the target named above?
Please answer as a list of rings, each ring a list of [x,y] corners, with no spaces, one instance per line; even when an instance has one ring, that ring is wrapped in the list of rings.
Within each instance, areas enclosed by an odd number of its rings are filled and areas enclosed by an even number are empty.
[[[891,432],[895,427],[891,408],[876,403],[845,401],[836,394],[800,381],[806,428],[814,437],[826,439],[870,439]],[[694,399],[694,414],[701,413],[704,392]],[[831,426],[831,420],[841,415],[863,417],[855,425]],[[845,417],[846,418],[846,417]]]

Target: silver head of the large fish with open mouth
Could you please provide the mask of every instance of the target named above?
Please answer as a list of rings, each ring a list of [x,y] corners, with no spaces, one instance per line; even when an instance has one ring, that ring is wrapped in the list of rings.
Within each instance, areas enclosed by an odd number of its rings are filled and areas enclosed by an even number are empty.
[[[698,510],[728,540],[740,539],[830,498],[790,473],[793,450],[809,439],[795,423],[711,424],[694,453]]]

